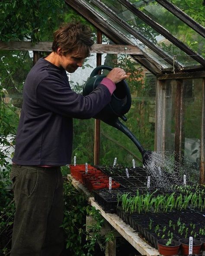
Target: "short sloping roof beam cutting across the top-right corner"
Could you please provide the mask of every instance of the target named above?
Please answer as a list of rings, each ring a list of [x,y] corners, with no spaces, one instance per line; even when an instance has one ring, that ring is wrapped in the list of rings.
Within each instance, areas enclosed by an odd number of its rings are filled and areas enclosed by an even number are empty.
[[[199,33],[201,36],[205,37],[205,27],[197,23],[195,20],[189,17],[186,13],[184,13],[178,7],[173,5],[173,3],[170,3],[167,0],[156,0],[156,1],[157,3],[162,5],[164,8],[166,8],[168,11],[173,13],[180,20],[182,20],[184,23],[186,23],[193,30],[195,30],[197,33]]]

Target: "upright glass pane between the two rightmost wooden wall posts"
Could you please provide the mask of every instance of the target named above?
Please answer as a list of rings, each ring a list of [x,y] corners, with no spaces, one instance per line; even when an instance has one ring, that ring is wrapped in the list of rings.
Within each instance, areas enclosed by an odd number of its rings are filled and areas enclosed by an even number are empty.
[[[183,81],[184,88],[184,164],[199,175],[202,126],[202,79]]]

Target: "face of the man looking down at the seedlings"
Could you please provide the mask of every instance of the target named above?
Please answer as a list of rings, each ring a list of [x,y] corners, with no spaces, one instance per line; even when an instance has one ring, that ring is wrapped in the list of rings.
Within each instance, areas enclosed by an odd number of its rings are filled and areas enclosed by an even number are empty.
[[[84,57],[80,53],[74,50],[68,53],[66,56],[61,55],[60,66],[64,68],[67,72],[73,73],[78,67],[83,66]]]

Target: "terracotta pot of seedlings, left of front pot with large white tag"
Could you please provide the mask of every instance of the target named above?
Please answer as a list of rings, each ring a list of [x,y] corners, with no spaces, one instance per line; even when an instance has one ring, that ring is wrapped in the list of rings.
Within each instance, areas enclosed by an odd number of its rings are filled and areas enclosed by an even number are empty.
[[[170,245],[166,245],[168,241],[169,239],[160,239],[157,241],[159,253],[165,256],[178,254],[180,242],[177,240],[172,240]]]

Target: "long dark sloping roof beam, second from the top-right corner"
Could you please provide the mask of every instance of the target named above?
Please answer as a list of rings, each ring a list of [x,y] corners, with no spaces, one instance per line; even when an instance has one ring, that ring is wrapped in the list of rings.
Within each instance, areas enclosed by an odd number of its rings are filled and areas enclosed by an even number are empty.
[[[163,28],[163,26],[160,26],[158,23],[156,23],[154,20],[152,20],[149,16],[138,10],[135,5],[131,4],[128,0],[118,0],[122,5],[124,5],[128,10],[130,10],[132,13],[134,13],[136,16],[138,16],[141,20],[146,22],[149,26],[151,26],[154,30],[159,32],[162,36],[167,38],[171,43],[176,45],[179,49],[183,50],[186,54],[191,56],[193,59],[195,59],[197,62],[205,66],[205,59],[202,58],[198,53],[190,49],[188,46],[186,46],[183,42],[181,42],[179,39],[177,39],[175,36],[172,36],[166,29]]]

